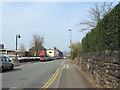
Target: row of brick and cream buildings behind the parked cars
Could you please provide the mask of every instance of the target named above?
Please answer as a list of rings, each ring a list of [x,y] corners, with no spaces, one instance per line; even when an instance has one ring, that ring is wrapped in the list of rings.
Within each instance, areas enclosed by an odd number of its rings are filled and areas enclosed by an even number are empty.
[[[33,57],[36,56],[36,54],[38,54],[37,56],[63,57],[63,52],[56,47],[53,49],[46,49],[45,47],[40,46],[37,48],[37,52],[35,47],[30,48],[29,51],[17,51],[17,55],[24,57]],[[0,55],[15,56],[16,50],[4,49],[4,45],[0,45]]]

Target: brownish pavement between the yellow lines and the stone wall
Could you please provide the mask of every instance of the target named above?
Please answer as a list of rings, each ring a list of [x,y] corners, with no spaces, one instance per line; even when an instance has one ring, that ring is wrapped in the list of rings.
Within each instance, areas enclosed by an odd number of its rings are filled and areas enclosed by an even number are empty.
[[[75,64],[66,61],[58,88],[92,88],[87,79],[78,71]]]

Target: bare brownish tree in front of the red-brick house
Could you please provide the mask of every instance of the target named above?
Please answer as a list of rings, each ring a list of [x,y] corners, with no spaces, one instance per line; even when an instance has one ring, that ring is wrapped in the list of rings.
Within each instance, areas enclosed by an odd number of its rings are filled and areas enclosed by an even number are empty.
[[[44,43],[44,38],[38,34],[33,35],[33,40],[31,41],[32,52],[35,52],[36,56],[38,56],[38,50]]]

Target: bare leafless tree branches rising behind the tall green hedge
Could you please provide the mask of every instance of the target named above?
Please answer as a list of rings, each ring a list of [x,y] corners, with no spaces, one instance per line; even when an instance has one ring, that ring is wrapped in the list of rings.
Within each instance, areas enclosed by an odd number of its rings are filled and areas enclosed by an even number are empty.
[[[96,27],[99,20],[101,20],[107,13],[109,13],[113,8],[113,2],[104,2],[103,4],[95,4],[89,10],[88,17],[90,20],[83,20],[79,23],[80,26],[84,26],[81,28],[81,32],[88,31]]]

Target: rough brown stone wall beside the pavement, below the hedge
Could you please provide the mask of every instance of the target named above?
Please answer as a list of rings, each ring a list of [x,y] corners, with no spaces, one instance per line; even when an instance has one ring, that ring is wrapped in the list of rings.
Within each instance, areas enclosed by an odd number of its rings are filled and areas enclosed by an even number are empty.
[[[116,88],[120,81],[118,51],[84,53],[77,58],[77,65],[84,76],[98,88]]]

